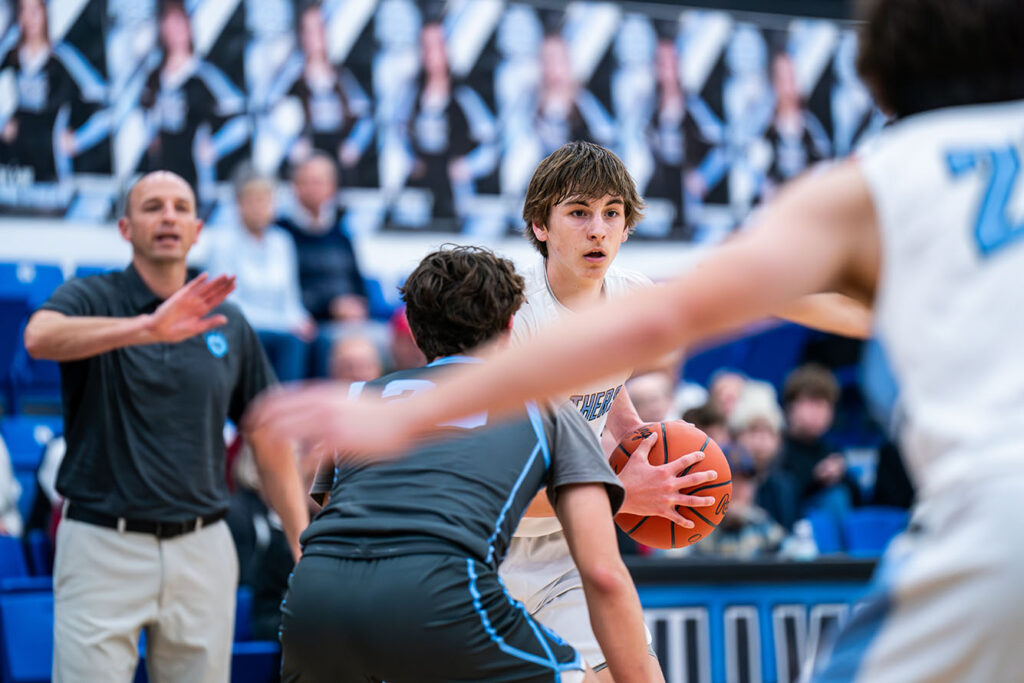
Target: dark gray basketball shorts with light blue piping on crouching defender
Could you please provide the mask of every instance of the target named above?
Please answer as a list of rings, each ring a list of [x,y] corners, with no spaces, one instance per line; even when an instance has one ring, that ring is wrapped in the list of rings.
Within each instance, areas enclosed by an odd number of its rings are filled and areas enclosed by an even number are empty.
[[[282,680],[583,680],[577,651],[497,572],[452,554],[305,555],[282,604]]]

